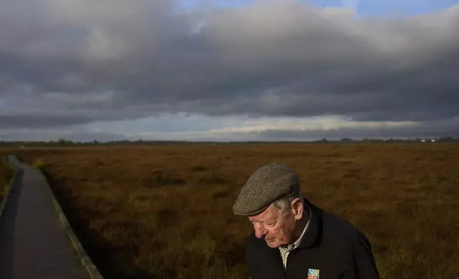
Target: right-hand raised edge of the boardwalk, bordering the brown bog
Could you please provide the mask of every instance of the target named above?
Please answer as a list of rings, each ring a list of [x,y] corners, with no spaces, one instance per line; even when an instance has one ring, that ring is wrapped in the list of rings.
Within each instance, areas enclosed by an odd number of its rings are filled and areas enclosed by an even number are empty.
[[[39,169],[41,172],[41,169]],[[43,172],[41,172],[43,174]],[[51,196],[53,198],[53,204],[54,208],[57,211],[58,218],[61,220],[61,223],[63,227],[65,228],[68,238],[70,239],[72,246],[78,256],[80,257],[80,262],[81,265],[83,265],[83,268],[86,269],[88,272],[89,276],[91,279],[104,279],[103,276],[100,274],[98,268],[96,268],[96,265],[94,265],[93,261],[91,258],[88,256],[86,251],[84,250],[83,246],[81,245],[80,241],[78,240],[78,237],[76,236],[75,232],[73,231],[73,228],[70,226],[70,223],[68,223],[68,219],[66,217],[66,214],[63,213],[61,204],[56,199],[56,196],[54,195],[53,191],[51,190],[51,187],[48,184],[48,189],[51,192]]]

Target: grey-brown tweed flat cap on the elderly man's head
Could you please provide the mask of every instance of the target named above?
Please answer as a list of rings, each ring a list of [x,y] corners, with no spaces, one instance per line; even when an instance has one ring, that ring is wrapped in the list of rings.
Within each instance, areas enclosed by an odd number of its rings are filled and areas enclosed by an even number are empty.
[[[242,187],[232,207],[235,215],[254,216],[277,199],[299,193],[299,181],[292,169],[271,163],[259,167]]]

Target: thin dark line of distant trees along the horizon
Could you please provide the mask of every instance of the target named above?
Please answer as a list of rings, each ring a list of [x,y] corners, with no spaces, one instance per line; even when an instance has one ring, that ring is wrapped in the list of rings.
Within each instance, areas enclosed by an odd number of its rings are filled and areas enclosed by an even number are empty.
[[[117,140],[108,142],[99,142],[93,140],[90,142],[78,142],[68,139],[59,139],[57,141],[0,141],[2,147],[71,147],[71,146],[110,146],[110,145],[158,145],[158,144],[297,144],[297,143],[432,143],[432,142],[459,142],[459,138],[453,137],[440,137],[440,138],[408,138],[408,139],[378,139],[378,138],[365,138],[365,139],[351,139],[342,138],[338,140],[333,139],[319,139],[313,141],[278,141],[278,142],[188,142],[188,141],[158,141],[158,140]]]

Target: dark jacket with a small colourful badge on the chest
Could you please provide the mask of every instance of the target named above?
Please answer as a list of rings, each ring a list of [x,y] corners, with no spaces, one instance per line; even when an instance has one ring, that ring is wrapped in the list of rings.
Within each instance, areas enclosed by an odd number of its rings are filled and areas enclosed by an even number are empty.
[[[366,236],[348,221],[305,202],[311,208],[311,223],[299,247],[290,252],[286,272],[279,248],[270,248],[254,233],[249,236],[244,256],[252,278],[379,279]]]

